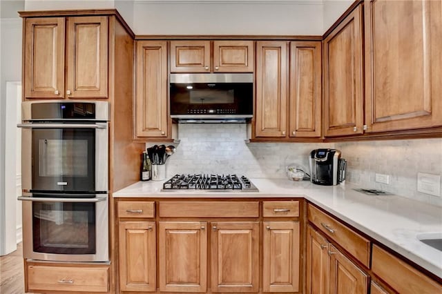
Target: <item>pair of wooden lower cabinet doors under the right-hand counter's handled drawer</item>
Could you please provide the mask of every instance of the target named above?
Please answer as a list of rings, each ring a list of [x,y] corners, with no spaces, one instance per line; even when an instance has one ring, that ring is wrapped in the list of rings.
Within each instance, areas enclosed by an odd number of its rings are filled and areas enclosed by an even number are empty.
[[[369,277],[310,226],[307,228],[307,293],[366,294]]]

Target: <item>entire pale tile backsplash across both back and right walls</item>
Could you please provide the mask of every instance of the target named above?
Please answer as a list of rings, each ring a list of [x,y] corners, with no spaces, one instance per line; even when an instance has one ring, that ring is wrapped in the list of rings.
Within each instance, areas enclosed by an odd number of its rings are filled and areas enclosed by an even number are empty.
[[[309,170],[311,150],[338,148],[348,162],[346,182],[442,206],[442,197],[417,192],[417,173],[442,175],[442,139],[246,143],[245,124],[180,124],[179,135],[176,153],[166,162],[166,177],[176,173],[236,173],[286,179],[290,164]],[[375,173],[390,175],[390,184],[376,183]]]

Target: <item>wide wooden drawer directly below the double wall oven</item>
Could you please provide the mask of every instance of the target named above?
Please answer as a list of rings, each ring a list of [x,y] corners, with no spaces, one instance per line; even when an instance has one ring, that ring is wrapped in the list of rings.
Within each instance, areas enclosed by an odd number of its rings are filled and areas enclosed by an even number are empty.
[[[28,291],[108,291],[108,266],[28,265]]]

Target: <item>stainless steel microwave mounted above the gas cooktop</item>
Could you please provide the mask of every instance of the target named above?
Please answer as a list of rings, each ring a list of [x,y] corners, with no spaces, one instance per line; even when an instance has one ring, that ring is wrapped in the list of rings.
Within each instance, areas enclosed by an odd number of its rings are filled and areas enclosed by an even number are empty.
[[[171,74],[171,117],[241,122],[253,117],[253,74]]]

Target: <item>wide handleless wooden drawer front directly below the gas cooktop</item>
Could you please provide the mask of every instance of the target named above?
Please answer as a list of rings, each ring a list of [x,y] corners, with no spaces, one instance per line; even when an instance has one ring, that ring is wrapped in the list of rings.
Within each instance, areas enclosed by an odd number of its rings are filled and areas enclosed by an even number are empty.
[[[160,217],[259,217],[259,202],[160,202]]]

